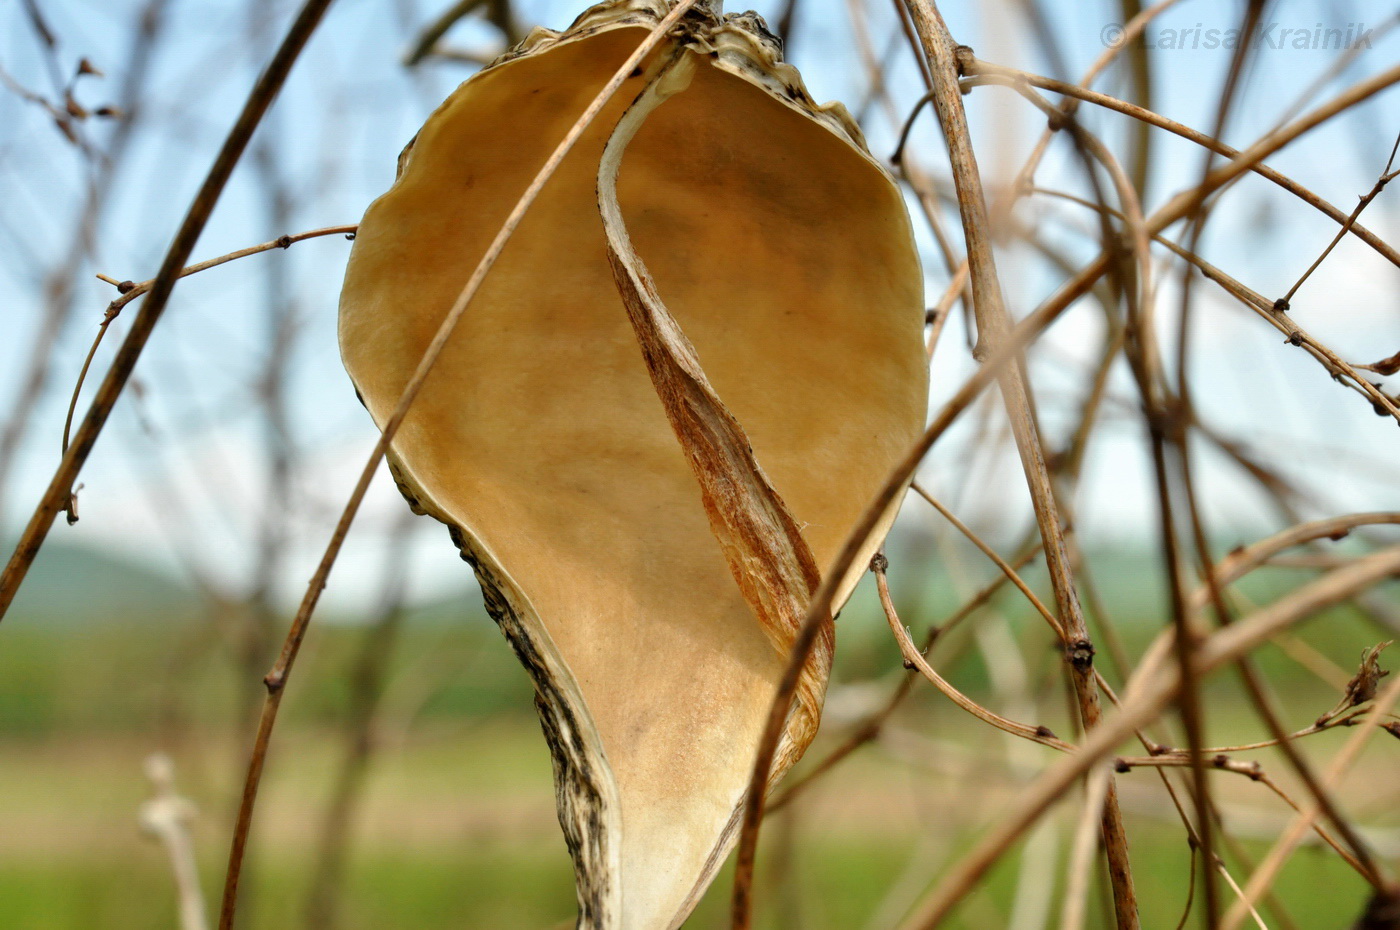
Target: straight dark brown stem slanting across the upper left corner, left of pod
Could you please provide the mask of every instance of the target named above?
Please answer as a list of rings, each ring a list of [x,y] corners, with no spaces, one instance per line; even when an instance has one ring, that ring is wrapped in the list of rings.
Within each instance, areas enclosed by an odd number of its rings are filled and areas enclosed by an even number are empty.
[[[206,175],[203,185],[200,185],[199,193],[195,195],[195,200],[190,203],[179,231],[165,252],[160,272],[157,272],[151,283],[150,297],[141,304],[141,311],[132,322],[132,329],[122,342],[122,347],[118,349],[106,377],[102,378],[102,385],[98,388],[87,416],[83,417],[77,436],[73,437],[73,443],[59,462],[48,489],[43,492],[43,497],[39,500],[38,507],[35,507],[34,515],[29,517],[29,522],[25,525],[18,545],[15,545],[14,555],[10,556],[4,573],[0,574],[0,619],[4,618],[14,602],[14,595],[18,592],[25,574],[28,574],[29,566],[34,564],[35,556],[39,555],[39,548],[49,535],[49,528],[53,527],[55,517],[69,507],[73,483],[77,480],[83,464],[87,462],[87,457],[92,452],[92,447],[97,444],[97,438],[102,433],[102,427],[106,424],[106,417],[112,413],[116,399],[126,388],[126,382],[132,377],[136,361],[141,357],[141,350],[146,349],[155,324],[160,322],[161,314],[165,312],[171,293],[175,289],[175,282],[179,279],[179,272],[189,261],[189,255],[195,249],[195,244],[199,241],[209,216],[214,211],[214,204],[218,203],[224,185],[228,182],[230,175],[232,175],[234,167],[244,154],[244,148],[248,146],[248,140],[252,139],[258,123],[262,122],[267,108],[272,106],[277,91],[281,90],[283,83],[291,73],[291,66],[297,62],[302,48],[305,48],[311,34],[321,24],[321,18],[332,1],[307,0],[287,29],[287,35],[273,55],[272,62],[267,63],[267,69],[259,76],[258,83],[253,84],[242,112],[234,122],[232,129],[230,129],[224,146],[214,158],[209,175]]]

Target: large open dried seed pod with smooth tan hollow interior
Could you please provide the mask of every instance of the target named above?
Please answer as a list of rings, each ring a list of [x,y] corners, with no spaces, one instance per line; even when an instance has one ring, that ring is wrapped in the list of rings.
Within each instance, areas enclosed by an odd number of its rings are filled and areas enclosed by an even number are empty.
[[[378,423],[521,192],[668,11],[605,3],[533,31],[405,151],[340,305]],[[601,176],[634,102],[620,172]],[[651,303],[624,304],[629,280]],[[701,4],[585,132],[447,343],[389,461],[535,681],[581,927],[679,926],[720,867],[795,625],[764,604],[755,553],[834,557],[923,426],[921,333],[909,216],[854,122],[812,102],[759,17]],[[830,647],[827,629],[773,780],[813,735]]]

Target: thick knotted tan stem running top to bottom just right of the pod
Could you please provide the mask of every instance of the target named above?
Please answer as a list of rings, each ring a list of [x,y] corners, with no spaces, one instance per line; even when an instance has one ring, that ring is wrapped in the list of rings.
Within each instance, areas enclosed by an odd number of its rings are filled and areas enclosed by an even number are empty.
[[[938,113],[938,122],[944,127],[953,183],[958,189],[963,235],[967,242],[977,339],[986,352],[987,347],[1002,343],[1011,329],[1011,319],[1002,303],[1001,283],[991,251],[981,176],[972,150],[962,91],[958,85],[958,52],[942,15],[931,0],[907,0],[907,6],[932,76],[932,105]],[[1046,566],[1050,570],[1056,606],[1064,627],[1065,660],[1079,705],[1079,717],[1084,727],[1092,730],[1102,716],[1098,682],[1093,676],[1093,643],[1089,639],[1084,611],[1079,606],[1074,570],[1070,566],[1064,531],[1060,525],[1058,504],[1050,483],[1050,472],[1046,468],[1039,431],[1030,415],[1030,396],[1021,367],[1018,364],[1008,366],[1001,373],[998,384],[1026,472],[1036,522],[1044,541]],[[1123,812],[1119,808],[1117,790],[1112,779],[1106,787],[1102,824],[1117,926],[1119,930],[1134,930],[1138,927],[1137,895],[1133,889],[1133,868],[1128,860]]]

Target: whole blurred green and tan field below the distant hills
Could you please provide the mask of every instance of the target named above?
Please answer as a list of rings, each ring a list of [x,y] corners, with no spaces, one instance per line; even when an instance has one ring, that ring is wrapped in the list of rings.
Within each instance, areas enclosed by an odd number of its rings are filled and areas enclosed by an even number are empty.
[[[1106,590],[1120,605],[1142,598],[1141,585],[1127,577],[1109,578]],[[910,604],[906,619],[916,629],[952,604],[951,595],[914,594],[899,597]],[[1021,643],[1028,678],[1037,682],[1039,721],[1070,733],[1054,685],[1057,654],[1033,618],[1015,601],[1004,602],[1005,632]],[[868,592],[843,613],[836,686],[809,759],[820,758],[903,674],[879,622]],[[1155,629],[1145,620],[1123,625],[1126,647],[1135,654]],[[308,640],[265,779],[244,927],[309,926],[307,892],[344,755],[350,668],[364,636],[353,625],[326,623]],[[1310,661],[1345,675],[1361,647],[1376,639],[1375,627],[1334,612],[1309,625],[1299,641],[1315,653]],[[974,641],[966,644],[941,644],[951,658],[938,664],[969,693],[994,702],[984,654]],[[137,828],[137,811],[151,793],[141,762],[154,751],[174,758],[178,786],[200,811],[193,828],[199,866],[206,896],[216,899],[251,740],[251,728],[238,721],[260,699],[258,681],[241,676],[228,654],[225,633],[178,612],[83,623],[21,615],[0,629],[0,929],[176,926],[165,853]],[[1305,726],[1336,700],[1334,685],[1282,650],[1268,647],[1259,660],[1291,724]],[[498,633],[466,597],[421,611],[403,629],[389,671],[350,831],[339,926],[571,926],[573,887],[549,759],[528,682]],[[1212,742],[1260,735],[1228,675],[1211,682],[1207,699]],[[1324,759],[1344,738],[1345,731],[1322,734],[1305,748]],[[1400,833],[1397,752],[1394,741],[1373,741],[1344,796],[1390,861]],[[1001,734],[921,690],[889,738],[770,821],[759,926],[893,926],[1049,755],[1028,745],[1011,749]],[[1289,784],[1277,756],[1253,758]],[[1215,776],[1214,784],[1240,849],[1261,856],[1270,832],[1287,822],[1287,808],[1245,779]],[[1186,896],[1183,833],[1152,772],[1123,776],[1121,791],[1142,926],[1175,927]],[[1077,815],[1078,804],[1063,804],[1047,832],[1008,857],[949,926],[1009,927],[1018,894],[1025,906],[1037,889],[1063,887]],[[1243,881],[1247,868],[1226,859]],[[1106,927],[1103,882],[1098,885],[1089,926]],[[1348,927],[1366,892],[1330,850],[1313,846],[1294,857],[1278,889],[1292,923],[1266,910],[1270,927]],[[687,926],[728,926],[727,895],[721,878]],[[1056,926],[1053,899],[1049,908],[1046,926]]]

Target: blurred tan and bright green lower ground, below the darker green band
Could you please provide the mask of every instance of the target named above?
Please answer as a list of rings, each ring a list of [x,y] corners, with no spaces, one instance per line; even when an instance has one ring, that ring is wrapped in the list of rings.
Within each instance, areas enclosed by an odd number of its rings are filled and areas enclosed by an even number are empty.
[[[573,888],[553,822],[547,761],[529,723],[498,720],[475,733],[444,728],[412,748],[385,752],[354,832],[342,926],[547,929],[570,917]],[[323,735],[305,730],[284,735],[256,828],[248,927],[305,926],[309,859],[325,803],[319,782],[333,752]],[[203,761],[224,762],[234,748],[207,747]],[[140,776],[141,751],[132,740],[99,738],[6,747],[0,926],[175,926],[164,852],[136,826],[136,810],[148,793]],[[791,825],[784,818],[770,824],[760,926],[868,926],[882,905],[889,906],[892,887],[903,892],[895,902],[911,901],[1015,790],[974,780],[959,786],[882,756],[872,751],[834,775],[798,807]],[[203,884],[213,896],[231,821],[227,784],[193,777],[197,765],[182,772],[183,787],[203,812],[196,838]],[[1187,849],[1161,811],[1145,812],[1149,779],[1148,773],[1124,779],[1144,926],[1175,926],[1184,901]],[[1267,805],[1261,797],[1253,800]],[[1065,805],[1054,821],[1061,847],[1043,866],[1056,878],[1065,867],[1074,812]],[[785,854],[776,849],[783,845],[790,846]],[[1259,842],[1245,846],[1254,857],[1266,849]],[[792,885],[774,891],[778,861],[791,870]],[[1004,863],[951,926],[1011,926],[1019,868],[1015,859]],[[1281,889],[1301,927],[1347,927],[1365,895],[1343,863],[1317,849],[1294,860]],[[721,878],[687,926],[727,926],[727,891]],[[1109,924],[1095,913],[1091,926]]]

